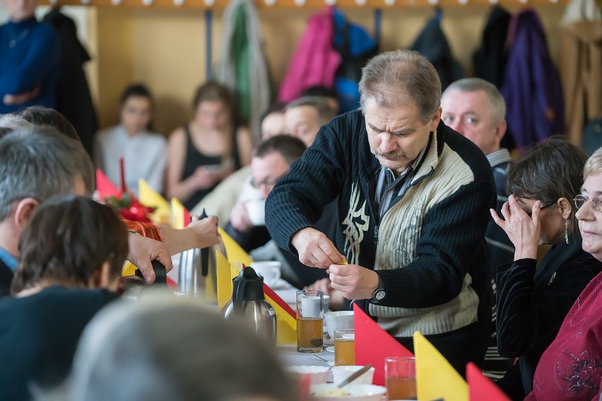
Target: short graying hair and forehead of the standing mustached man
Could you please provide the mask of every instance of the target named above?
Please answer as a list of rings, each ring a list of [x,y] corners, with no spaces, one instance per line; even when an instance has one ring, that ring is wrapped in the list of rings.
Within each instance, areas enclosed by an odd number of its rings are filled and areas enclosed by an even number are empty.
[[[425,56],[412,50],[381,53],[362,68],[360,105],[374,100],[380,107],[396,107],[409,98],[426,124],[441,104],[441,80]]]

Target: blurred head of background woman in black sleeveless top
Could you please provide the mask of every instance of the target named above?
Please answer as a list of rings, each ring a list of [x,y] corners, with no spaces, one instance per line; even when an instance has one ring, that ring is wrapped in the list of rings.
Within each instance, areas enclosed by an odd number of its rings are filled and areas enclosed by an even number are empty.
[[[224,130],[234,121],[234,100],[228,88],[209,81],[194,95],[194,120],[208,130]]]

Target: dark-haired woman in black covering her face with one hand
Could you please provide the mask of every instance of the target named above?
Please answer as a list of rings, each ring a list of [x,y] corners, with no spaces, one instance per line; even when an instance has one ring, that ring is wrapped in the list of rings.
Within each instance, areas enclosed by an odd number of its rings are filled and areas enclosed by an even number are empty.
[[[514,400],[531,391],[533,373],[579,293],[602,263],[581,248],[573,198],[579,193],[586,156],[565,140],[534,146],[509,171],[497,225],[514,244],[514,262],[497,267],[497,345],[518,357],[497,383]],[[537,265],[538,246],[552,245]],[[553,398],[549,398],[552,400]]]

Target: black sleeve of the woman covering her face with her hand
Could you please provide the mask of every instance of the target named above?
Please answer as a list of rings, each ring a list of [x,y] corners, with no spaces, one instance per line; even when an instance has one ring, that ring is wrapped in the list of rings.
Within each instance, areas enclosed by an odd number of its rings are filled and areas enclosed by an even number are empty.
[[[533,300],[535,259],[497,267],[497,347],[502,357],[519,357],[547,348],[582,290],[594,277],[582,261],[556,270],[553,282]]]

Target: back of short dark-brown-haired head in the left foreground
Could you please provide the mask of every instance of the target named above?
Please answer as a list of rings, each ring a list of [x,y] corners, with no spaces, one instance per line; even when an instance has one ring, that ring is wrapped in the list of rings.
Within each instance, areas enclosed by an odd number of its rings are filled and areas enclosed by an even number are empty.
[[[19,238],[11,292],[64,285],[117,289],[127,231],[107,205],[62,196],[42,203]]]

